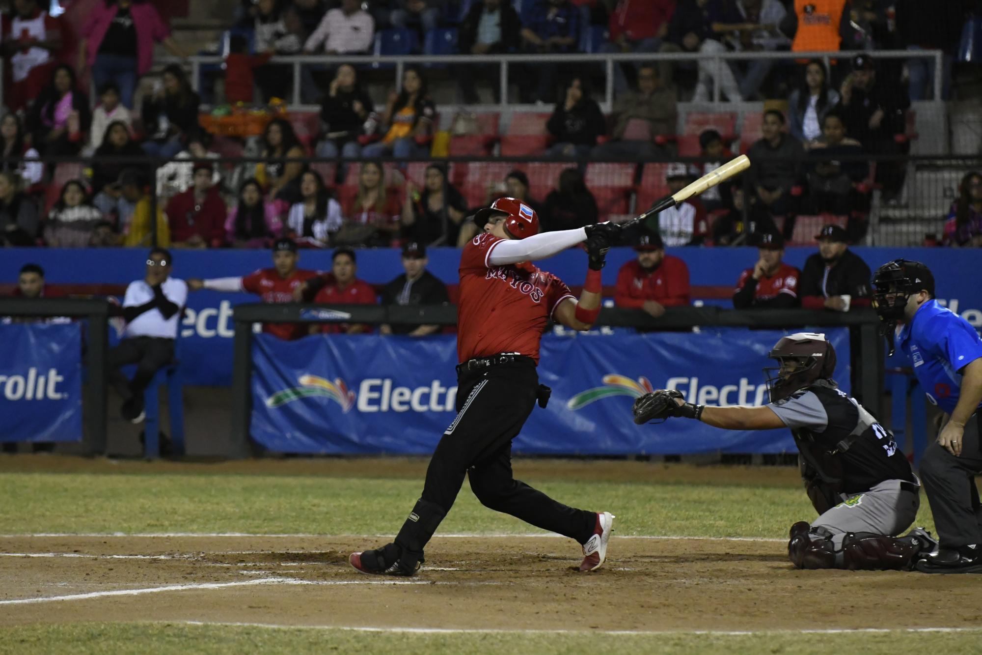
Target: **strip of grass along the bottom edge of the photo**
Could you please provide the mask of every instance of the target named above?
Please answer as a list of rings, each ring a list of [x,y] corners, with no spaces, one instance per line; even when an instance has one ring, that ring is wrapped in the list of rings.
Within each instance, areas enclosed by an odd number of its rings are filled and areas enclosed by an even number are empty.
[[[391,633],[244,625],[74,624],[0,629],[0,653],[977,653],[982,632],[800,634]]]

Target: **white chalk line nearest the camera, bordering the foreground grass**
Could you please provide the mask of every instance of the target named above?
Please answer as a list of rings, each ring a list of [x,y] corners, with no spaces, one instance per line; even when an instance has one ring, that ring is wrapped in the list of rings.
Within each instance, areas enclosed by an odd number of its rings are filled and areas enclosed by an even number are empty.
[[[598,629],[502,629],[482,627],[373,627],[365,625],[280,625],[253,623],[226,623],[207,621],[168,621],[152,622],[168,625],[224,625],[230,627],[263,627],[269,629],[314,629],[314,630],[348,630],[354,632],[400,632],[415,634],[625,634],[625,635],[672,635],[672,634],[708,634],[719,636],[753,636],[761,634],[853,634],[870,633],[883,634],[890,632],[979,632],[982,627],[831,627],[831,628],[802,628],[778,630],[598,630]]]

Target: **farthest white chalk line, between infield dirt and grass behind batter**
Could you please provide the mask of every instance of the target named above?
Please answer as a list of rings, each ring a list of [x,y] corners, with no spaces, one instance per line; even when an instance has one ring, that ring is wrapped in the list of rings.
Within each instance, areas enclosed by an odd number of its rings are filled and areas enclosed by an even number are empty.
[[[134,539],[161,539],[175,537],[199,537],[199,538],[277,538],[277,539],[386,539],[391,538],[391,534],[259,534],[255,532],[35,532],[26,534],[0,534],[0,539],[30,539],[30,538],[55,538],[55,537],[130,537]],[[532,538],[560,538],[567,539],[561,534],[548,532],[458,532],[452,534],[437,534],[434,539],[505,539],[516,537],[518,539]],[[691,541],[763,541],[785,543],[788,539],[777,537],[711,537],[706,535],[686,536],[686,535],[647,535],[647,534],[614,534],[611,539],[646,539],[646,540],[691,540]]]

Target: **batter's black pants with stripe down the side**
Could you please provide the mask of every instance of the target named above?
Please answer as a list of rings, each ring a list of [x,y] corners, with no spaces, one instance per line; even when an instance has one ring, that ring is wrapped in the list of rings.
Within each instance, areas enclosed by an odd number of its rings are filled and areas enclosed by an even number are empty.
[[[557,503],[512,475],[512,440],[535,406],[538,387],[535,362],[528,357],[458,376],[457,418],[433,452],[422,497],[396,537],[404,552],[422,557],[457,500],[464,475],[482,505],[578,543],[590,538],[595,512]]]

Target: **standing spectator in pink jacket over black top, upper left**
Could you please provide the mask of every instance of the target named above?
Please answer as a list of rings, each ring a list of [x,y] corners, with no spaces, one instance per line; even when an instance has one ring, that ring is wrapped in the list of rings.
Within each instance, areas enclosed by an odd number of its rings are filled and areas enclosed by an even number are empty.
[[[153,65],[153,44],[186,57],[157,10],[145,0],[99,0],[82,26],[79,77],[92,69],[96,89],[115,83],[122,102],[133,109],[136,81]]]

